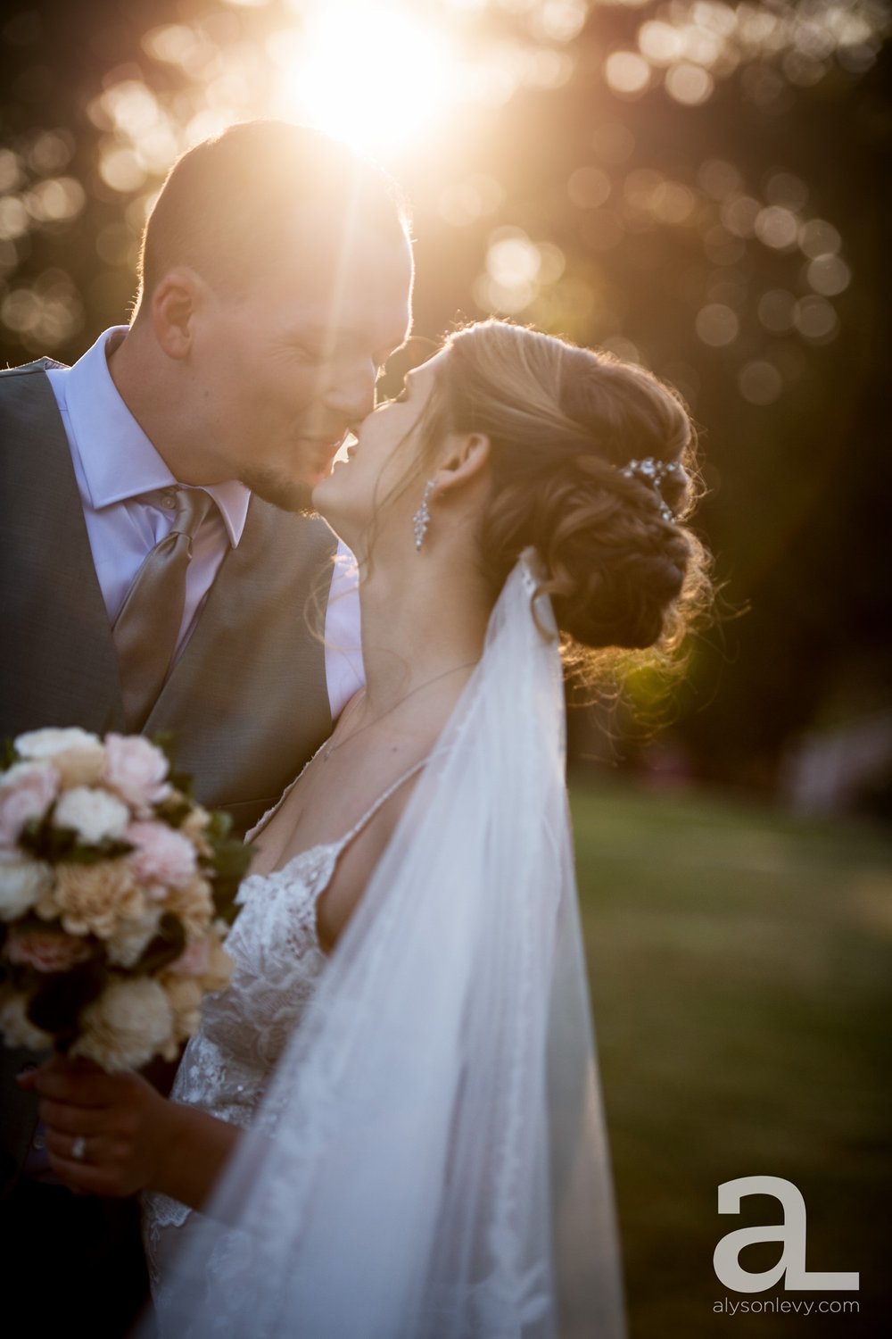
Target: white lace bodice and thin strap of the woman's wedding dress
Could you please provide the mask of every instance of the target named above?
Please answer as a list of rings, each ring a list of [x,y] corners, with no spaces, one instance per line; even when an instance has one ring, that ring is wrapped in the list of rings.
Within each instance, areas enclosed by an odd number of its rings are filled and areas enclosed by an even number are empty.
[[[316,904],[344,850],[423,766],[420,762],[399,777],[338,841],[310,846],[281,869],[250,874],[243,881],[237,897],[242,909],[226,940],[234,964],[230,983],[205,999],[201,1026],[177,1071],[173,1101],[201,1107],[242,1129],[251,1123],[325,968]],[[246,840],[261,832],[290,789]],[[152,1285],[191,1212],[167,1196],[143,1196],[143,1237]]]

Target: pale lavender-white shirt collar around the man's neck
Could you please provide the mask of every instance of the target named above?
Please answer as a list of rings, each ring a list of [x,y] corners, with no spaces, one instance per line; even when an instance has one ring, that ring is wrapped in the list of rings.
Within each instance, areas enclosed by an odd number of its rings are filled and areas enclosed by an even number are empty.
[[[122,400],[108,371],[106,345],[126,325],[103,331],[66,376],[66,404],[90,499],[96,510],[178,483]],[[237,479],[205,489],[219,507],[235,548],[245,529],[250,490]]]

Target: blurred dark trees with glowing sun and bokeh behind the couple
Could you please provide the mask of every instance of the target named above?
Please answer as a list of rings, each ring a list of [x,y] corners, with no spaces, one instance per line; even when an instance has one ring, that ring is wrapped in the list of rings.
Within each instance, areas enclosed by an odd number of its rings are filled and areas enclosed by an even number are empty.
[[[701,424],[730,616],[667,728],[590,715],[578,757],[888,815],[891,29],[887,0],[13,3],[0,358],[71,362],[127,319],[189,145],[257,115],[354,139],[412,205],[419,335],[535,323]]]

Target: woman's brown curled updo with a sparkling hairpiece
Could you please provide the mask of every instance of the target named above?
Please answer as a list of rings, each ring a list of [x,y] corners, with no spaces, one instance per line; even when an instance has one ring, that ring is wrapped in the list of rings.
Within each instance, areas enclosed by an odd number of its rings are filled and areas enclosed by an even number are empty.
[[[447,432],[489,438],[480,556],[493,600],[532,544],[566,659],[583,678],[606,648],[674,651],[711,590],[706,550],[685,525],[699,489],[694,427],[677,392],[611,353],[507,321],[460,329],[447,348],[420,467]],[[678,462],[659,493],[621,474],[647,457]]]

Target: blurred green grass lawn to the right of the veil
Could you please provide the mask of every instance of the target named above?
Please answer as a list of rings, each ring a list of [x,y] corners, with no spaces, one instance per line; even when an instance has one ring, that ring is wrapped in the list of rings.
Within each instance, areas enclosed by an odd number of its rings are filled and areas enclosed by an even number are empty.
[[[892,1335],[892,842],[709,794],[571,785],[631,1339]],[[785,1177],[806,1268],[859,1292],[732,1293],[713,1249],[781,1221],[719,1182]],[[741,1255],[770,1268],[780,1245]],[[713,1303],[860,1314],[715,1315]]]

